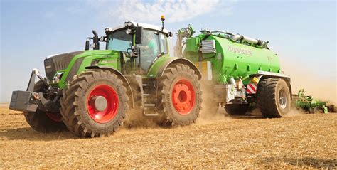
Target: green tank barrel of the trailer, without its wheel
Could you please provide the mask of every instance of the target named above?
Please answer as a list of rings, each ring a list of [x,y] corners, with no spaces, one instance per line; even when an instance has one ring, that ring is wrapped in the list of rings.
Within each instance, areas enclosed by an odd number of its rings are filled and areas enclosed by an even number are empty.
[[[222,83],[233,77],[242,78],[247,85],[249,75],[258,71],[281,72],[279,58],[267,48],[266,42],[243,36],[241,41],[233,40],[237,35],[203,31],[196,37],[186,39],[183,56],[194,62],[210,61],[213,79]]]

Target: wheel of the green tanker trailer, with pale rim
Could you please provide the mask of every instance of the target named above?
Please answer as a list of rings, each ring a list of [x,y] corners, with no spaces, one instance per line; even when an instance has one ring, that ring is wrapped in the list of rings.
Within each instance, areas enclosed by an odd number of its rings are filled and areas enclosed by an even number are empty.
[[[277,118],[290,110],[290,92],[281,78],[266,78],[257,85],[257,104],[264,117]]]

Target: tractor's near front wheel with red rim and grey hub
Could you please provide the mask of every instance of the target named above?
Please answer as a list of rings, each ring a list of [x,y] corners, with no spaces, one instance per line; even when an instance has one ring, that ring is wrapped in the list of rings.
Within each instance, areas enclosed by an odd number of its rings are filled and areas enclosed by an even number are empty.
[[[122,126],[129,109],[126,91],[122,80],[109,70],[75,75],[60,99],[63,122],[78,136],[109,136]]]

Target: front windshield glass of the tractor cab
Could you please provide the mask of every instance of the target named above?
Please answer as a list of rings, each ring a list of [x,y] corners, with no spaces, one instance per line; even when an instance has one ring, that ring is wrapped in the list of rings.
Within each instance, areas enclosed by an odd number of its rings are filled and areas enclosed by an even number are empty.
[[[127,51],[132,43],[132,35],[125,33],[125,30],[119,30],[109,34],[107,41],[107,50]]]

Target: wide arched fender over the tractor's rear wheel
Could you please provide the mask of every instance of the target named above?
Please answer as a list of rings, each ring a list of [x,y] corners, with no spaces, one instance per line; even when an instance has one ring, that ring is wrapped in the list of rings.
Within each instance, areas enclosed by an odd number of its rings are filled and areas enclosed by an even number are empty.
[[[186,58],[176,58],[176,57],[166,57],[166,58],[159,58],[154,65],[151,65],[149,70],[148,76],[156,76],[156,78],[161,77],[164,74],[164,70],[169,67],[169,65],[182,63],[188,65],[192,68],[195,73],[198,75],[198,80],[201,79],[202,75],[200,70],[194,65],[191,61],[187,60]]]

